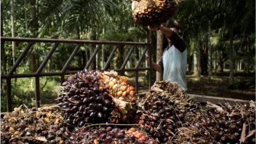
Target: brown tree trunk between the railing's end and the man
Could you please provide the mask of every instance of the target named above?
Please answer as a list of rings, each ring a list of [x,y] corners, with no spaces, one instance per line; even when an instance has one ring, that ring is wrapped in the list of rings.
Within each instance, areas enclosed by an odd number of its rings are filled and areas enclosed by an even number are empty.
[[[156,61],[161,60],[163,55],[163,34],[161,30],[157,31],[157,47],[156,47]],[[156,71],[156,81],[162,81],[163,77],[161,73]]]

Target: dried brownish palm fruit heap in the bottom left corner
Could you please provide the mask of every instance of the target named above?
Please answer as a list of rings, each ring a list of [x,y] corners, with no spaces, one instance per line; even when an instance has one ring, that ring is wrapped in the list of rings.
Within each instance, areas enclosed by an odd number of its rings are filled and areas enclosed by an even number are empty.
[[[14,108],[1,119],[1,143],[63,143],[62,118],[55,108]]]

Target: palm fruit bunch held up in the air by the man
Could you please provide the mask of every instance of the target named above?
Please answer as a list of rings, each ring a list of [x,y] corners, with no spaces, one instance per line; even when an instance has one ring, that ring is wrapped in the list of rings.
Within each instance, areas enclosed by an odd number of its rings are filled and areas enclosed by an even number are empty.
[[[141,0],[133,3],[133,18],[142,26],[159,26],[175,13],[174,0]]]

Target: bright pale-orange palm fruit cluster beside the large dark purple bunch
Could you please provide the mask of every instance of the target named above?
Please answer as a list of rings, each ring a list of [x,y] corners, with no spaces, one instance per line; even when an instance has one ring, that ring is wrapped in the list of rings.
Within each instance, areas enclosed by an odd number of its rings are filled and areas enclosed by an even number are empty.
[[[112,97],[122,101],[131,102],[135,100],[134,87],[127,82],[125,76],[118,76],[108,72],[104,73],[101,89],[107,89]]]

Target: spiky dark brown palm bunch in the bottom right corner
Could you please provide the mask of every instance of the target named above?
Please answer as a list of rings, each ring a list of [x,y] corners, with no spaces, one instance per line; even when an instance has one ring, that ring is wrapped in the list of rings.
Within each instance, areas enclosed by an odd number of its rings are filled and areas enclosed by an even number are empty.
[[[207,112],[179,131],[180,143],[255,143],[255,103],[218,106],[208,102]]]

